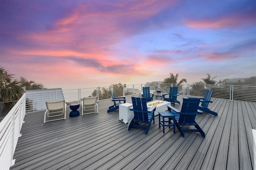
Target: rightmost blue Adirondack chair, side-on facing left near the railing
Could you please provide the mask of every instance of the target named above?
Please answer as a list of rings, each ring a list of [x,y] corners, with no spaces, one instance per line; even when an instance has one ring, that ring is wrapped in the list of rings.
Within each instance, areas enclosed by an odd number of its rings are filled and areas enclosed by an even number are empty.
[[[198,109],[201,111],[204,111],[206,113],[210,113],[212,115],[218,116],[218,113],[208,109],[209,103],[212,103],[212,101],[210,101],[211,97],[212,97],[212,93],[213,93],[212,90],[206,90],[206,92],[204,94],[204,98],[202,98],[202,100],[200,101],[202,103],[201,103],[201,105],[199,105]]]

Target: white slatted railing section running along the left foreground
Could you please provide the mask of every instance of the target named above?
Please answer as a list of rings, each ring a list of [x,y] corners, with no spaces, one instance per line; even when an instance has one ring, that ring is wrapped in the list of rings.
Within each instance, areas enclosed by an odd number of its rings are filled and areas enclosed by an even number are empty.
[[[14,165],[14,151],[21,136],[20,129],[25,117],[26,94],[14,105],[0,122],[0,170],[8,170]]]

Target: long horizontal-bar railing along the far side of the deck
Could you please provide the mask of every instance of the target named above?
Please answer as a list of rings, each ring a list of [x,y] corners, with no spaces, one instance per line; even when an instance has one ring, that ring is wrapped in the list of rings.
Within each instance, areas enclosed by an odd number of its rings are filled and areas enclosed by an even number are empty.
[[[26,112],[45,110],[46,101],[65,99],[67,104],[80,103],[84,97],[97,96],[98,101],[111,99],[110,90],[114,96],[134,95],[139,96],[145,84],[135,85],[112,85],[110,87],[94,87],[86,89],[62,90],[44,89],[26,91],[29,95],[26,98]],[[213,90],[212,97],[237,101],[256,102],[256,86],[234,86],[234,85],[205,85],[205,84],[149,84],[151,91],[161,90],[161,93],[169,93],[170,87],[178,87],[178,93],[187,96],[203,97],[206,89]],[[47,93],[46,93],[47,90]],[[43,93],[44,92],[44,93]]]

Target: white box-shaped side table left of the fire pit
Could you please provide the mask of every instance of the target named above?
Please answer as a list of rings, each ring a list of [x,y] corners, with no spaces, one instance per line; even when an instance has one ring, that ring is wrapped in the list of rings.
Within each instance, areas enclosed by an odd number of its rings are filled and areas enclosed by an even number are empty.
[[[134,117],[134,113],[130,111],[130,107],[132,107],[131,103],[119,105],[119,120],[123,123],[128,123]]]

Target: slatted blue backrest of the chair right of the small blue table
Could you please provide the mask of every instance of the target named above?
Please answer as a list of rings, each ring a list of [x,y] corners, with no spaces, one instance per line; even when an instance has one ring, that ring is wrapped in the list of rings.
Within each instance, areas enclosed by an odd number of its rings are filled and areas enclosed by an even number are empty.
[[[182,107],[180,110],[179,123],[191,123],[194,122],[200,98],[183,98]],[[189,114],[191,113],[191,115]]]

